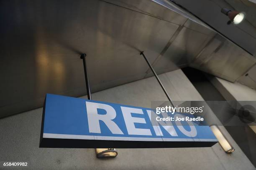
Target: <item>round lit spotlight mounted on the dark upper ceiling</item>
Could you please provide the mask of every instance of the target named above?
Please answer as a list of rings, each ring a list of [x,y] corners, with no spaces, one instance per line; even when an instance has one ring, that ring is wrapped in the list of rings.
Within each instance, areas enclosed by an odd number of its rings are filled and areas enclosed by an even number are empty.
[[[246,18],[246,13],[245,12],[238,12],[238,11],[235,11],[235,10],[232,11],[232,10],[230,10],[228,8],[225,8],[225,7],[223,7],[221,9],[221,13],[227,15],[228,18],[230,19],[227,23],[228,25],[230,23],[233,23],[235,25],[240,24]]]

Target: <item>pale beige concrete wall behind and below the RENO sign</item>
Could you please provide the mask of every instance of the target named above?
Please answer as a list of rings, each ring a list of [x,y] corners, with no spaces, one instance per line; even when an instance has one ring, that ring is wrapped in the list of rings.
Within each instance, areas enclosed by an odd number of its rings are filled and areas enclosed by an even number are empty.
[[[202,100],[181,70],[159,75],[173,100]],[[82,97],[86,98],[86,96]],[[151,101],[167,100],[154,77],[92,94],[94,100],[151,107]],[[114,159],[100,160],[94,149],[38,148],[42,108],[0,119],[0,161],[29,161],[31,169],[159,169],[159,170],[254,170],[238,145],[226,154],[217,143],[211,148],[118,149]],[[212,116],[215,116],[212,114]]]

